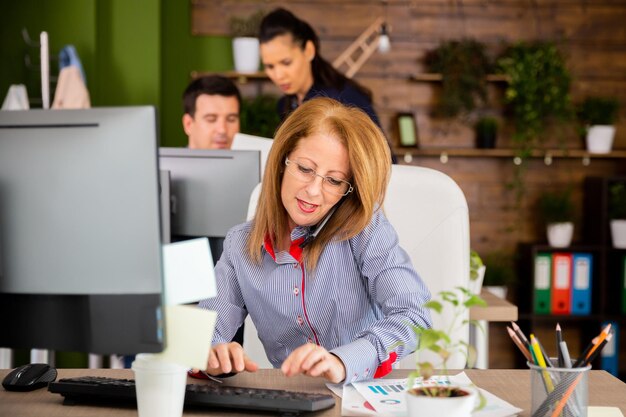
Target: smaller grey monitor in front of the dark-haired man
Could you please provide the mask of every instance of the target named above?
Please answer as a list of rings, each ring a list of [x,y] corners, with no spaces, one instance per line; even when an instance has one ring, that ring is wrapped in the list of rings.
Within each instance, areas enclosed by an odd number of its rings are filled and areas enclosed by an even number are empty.
[[[261,181],[258,151],[161,148],[159,166],[170,172],[174,239],[226,236],[246,221],[250,194]]]

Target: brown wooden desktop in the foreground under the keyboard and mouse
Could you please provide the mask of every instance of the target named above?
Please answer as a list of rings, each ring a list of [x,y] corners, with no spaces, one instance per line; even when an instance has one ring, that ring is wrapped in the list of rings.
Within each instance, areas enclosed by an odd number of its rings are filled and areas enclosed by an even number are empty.
[[[0,370],[0,378],[8,373],[8,370]],[[469,378],[479,387],[497,395],[498,397],[517,406],[522,411],[520,417],[530,416],[530,371],[527,369],[469,369],[465,371]],[[408,370],[395,370],[389,378],[404,378]],[[117,369],[61,369],[59,377],[80,375],[100,375],[114,378],[132,378],[130,370]],[[193,383],[206,383],[200,380],[191,380]],[[279,370],[264,369],[256,373],[241,374],[225,380],[226,384],[277,388],[292,391],[308,391],[330,393],[319,378],[304,376],[286,378]],[[589,405],[612,406],[621,409],[626,415],[626,384],[605,371],[591,371],[589,375]],[[63,406],[62,397],[52,394],[44,389],[33,392],[8,392],[0,389],[0,416],[11,417],[95,417],[95,416],[136,416],[137,411],[133,408],[113,408],[104,406]],[[185,416],[252,416],[254,413],[235,413],[231,411],[208,411],[190,410],[185,411]],[[304,414],[303,416],[306,416]],[[311,417],[341,416],[341,399],[337,398],[335,408],[309,414]]]

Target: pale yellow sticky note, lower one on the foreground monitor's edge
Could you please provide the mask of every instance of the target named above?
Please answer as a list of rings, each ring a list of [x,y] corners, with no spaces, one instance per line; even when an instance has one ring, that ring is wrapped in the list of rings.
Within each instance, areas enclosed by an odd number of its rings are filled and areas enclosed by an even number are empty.
[[[217,313],[196,306],[165,306],[166,348],[160,360],[206,369]]]

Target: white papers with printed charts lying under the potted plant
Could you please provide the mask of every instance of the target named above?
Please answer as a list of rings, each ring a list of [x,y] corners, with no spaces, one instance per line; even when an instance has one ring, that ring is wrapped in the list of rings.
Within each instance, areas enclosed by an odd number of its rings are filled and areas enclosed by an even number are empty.
[[[472,381],[465,372],[451,376],[453,385],[468,386]],[[406,414],[406,386],[405,379],[376,379],[355,382],[343,387],[328,385],[335,394],[342,397],[342,416],[382,416],[382,417],[405,417]],[[434,376],[428,381],[428,385],[447,384],[445,377]],[[415,382],[415,387],[424,386],[421,378]],[[480,389],[480,388],[479,388]],[[488,391],[480,389],[487,400],[487,405],[479,411],[472,413],[472,417],[508,417],[520,413],[522,410],[508,402],[496,397]]]

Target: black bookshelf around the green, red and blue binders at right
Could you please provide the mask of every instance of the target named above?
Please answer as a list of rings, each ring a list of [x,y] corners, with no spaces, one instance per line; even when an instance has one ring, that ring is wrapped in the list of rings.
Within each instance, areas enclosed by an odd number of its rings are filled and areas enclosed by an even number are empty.
[[[615,356],[617,366],[615,374],[626,380],[626,249],[613,247],[609,228],[609,186],[614,182],[626,182],[626,177],[587,177],[584,181],[583,200],[583,244],[571,245],[567,248],[553,248],[545,244],[523,244],[519,248],[518,270],[521,277],[527,277],[518,288],[517,304],[520,309],[520,327],[529,333],[552,331],[556,323],[560,323],[564,332],[575,333],[575,344],[572,356],[577,355],[604,323],[612,322],[617,327],[615,339]],[[573,314],[572,309],[566,314],[554,314],[552,305],[546,311],[538,307],[541,304],[541,292],[536,289],[541,282],[543,270],[536,267],[538,257],[544,256],[554,262],[555,254],[574,254],[570,264],[570,297],[573,281],[576,280],[576,254],[588,254],[592,258],[590,268],[591,308],[586,314]],[[554,303],[554,264],[550,265],[550,301]],[[539,284],[541,286],[541,284]],[[572,304],[570,303],[570,306]],[[550,347],[554,344],[547,340]],[[570,342],[568,341],[568,345]],[[609,359],[610,361],[610,359]],[[522,365],[521,363],[518,365]],[[595,369],[610,370],[607,357],[599,357],[594,363]]]

